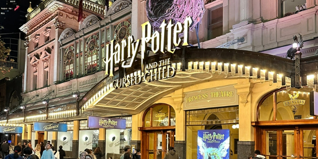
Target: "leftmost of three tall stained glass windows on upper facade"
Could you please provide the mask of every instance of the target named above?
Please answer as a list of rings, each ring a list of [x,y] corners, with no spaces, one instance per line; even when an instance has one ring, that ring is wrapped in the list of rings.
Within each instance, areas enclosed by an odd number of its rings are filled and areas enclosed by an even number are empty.
[[[68,46],[64,52],[64,80],[70,80],[74,76],[74,46]]]

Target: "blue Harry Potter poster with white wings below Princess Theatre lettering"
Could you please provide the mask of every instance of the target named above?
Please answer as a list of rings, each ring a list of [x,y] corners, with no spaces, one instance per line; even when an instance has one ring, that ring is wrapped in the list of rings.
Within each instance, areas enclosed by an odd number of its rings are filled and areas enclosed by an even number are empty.
[[[229,159],[229,129],[198,130],[198,159]]]

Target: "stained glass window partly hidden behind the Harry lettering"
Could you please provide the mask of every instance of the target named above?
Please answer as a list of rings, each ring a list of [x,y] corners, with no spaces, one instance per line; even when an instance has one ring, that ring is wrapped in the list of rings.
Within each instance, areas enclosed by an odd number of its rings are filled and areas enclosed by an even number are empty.
[[[131,34],[131,21],[130,19],[120,22],[114,26],[114,39],[120,42]]]

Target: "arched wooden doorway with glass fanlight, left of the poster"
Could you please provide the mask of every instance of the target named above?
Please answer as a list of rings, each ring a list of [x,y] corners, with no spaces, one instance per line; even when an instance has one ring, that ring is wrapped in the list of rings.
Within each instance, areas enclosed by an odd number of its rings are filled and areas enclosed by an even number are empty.
[[[174,147],[176,112],[167,104],[155,104],[143,114],[141,155],[143,158],[163,159],[169,146]]]

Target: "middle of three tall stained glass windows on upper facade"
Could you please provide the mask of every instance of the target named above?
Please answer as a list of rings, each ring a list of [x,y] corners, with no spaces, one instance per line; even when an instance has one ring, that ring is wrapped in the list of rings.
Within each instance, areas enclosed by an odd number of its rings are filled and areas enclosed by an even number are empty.
[[[98,35],[93,34],[86,40],[85,47],[85,74],[96,72],[99,69],[98,57],[99,57],[99,47],[98,47]]]

